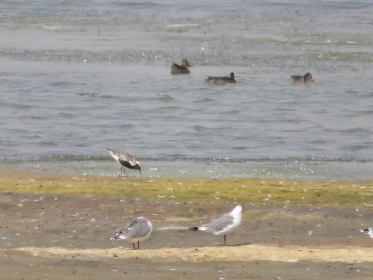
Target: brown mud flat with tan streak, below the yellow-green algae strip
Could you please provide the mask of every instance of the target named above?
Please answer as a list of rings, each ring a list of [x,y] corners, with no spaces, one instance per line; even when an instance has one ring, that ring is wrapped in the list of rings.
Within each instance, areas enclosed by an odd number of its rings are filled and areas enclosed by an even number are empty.
[[[242,225],[224,247],[222,236],[185,228],[229,212],[235,203],[3,192],[2,277],[372,279],[373,239],[359,231],[373,225],[369,207],[241,204]],[[142,250],[110,240],[140,216],[153,224]]]

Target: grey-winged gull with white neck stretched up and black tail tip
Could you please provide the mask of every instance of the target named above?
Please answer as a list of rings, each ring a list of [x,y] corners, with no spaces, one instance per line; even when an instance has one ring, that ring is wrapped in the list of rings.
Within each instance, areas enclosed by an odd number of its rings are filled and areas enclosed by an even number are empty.
[[[232,212],[213,218],[209,224],[201,227],[191,227],[189,230],[207,230],[215,235],[224,235],[224,246],[226,246],[227,233],[239,227],[243,210],[241,205],[237,205]]]

